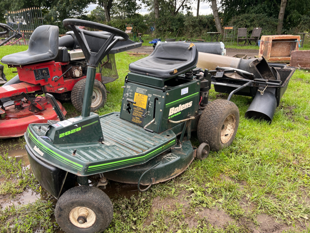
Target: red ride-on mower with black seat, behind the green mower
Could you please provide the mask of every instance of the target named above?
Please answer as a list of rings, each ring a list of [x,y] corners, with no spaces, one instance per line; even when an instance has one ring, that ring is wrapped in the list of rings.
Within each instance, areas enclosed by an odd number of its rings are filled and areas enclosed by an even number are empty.
[[[13,30],[1,24],[6,33]],[[118,78],[114,53],[138,48],[142,43],[114,37],[111,32],[86,31],[74,28],[88,42],[89,49],[98,53],[100,48],[108,48],[109,54],[101,57],[96,68],[95,85],[91,99],[91,111],[104,106],[106,83]],[[14,30],[13,30],[14,32]],[[122,41],[120,40],[122,39]],[[24,135],[30,123],[46,123],[60,120],[43,94],[52,93],[58,100],[70,100],[73,106],[82,110],[87,73],[86,58],[80,46],[81,41],[73,31],[59,38],[58,27],[43,25],[36,28],[29,40],[27,51],[2,57],[1,62],[8,67],[16,67],[18,75],[0,87],[0,138]],[[60,106],[60,111],[67,112]]]

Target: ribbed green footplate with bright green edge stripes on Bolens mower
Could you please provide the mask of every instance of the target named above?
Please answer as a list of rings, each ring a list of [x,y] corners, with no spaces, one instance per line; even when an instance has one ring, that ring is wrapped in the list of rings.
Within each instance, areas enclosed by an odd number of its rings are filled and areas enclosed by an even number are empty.
[[[101,116],[100,123],[102,143],[53,144],[44,138],[48,124],[29,125],[25,139],[36,157],[78,176],[142,164],[176,144],[172,130],[149,133],[141,126],[120,119],[118,112]],[[77,150],[75,156],[72,155],[74,149]]]

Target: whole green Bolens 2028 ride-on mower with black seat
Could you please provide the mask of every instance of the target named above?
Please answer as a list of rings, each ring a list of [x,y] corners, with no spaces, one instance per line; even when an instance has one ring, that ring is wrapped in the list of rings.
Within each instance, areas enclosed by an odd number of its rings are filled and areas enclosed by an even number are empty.
[[[102,232],[113,217],[112,202],[100,190],[108,180],[145,191],[178,176],[195,157],[203,160],[210,149],[232,143],[239,111],[227,100],[208,102],[211,75],[195,68],[196,46],[175,42],[158,43],[150,56],[131,63],[120,112],[99,117],[90,112],[98,61],[128,35],[89,21],[66,19],[63,24],[73,30],[87,59],[82,115],[66,120],[55,98],[46,94],[60,121],[30,124],[26,150],[34,176],[58,199],[55,217],[62,230]],[[77,26],[111,35],[93,53]],[[197,131],[198,148],[189,140],[192,131]]]

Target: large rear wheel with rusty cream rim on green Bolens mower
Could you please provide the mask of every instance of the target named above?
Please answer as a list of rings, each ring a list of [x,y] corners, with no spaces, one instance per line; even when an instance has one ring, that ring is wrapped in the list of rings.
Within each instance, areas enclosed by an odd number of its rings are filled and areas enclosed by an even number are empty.
[[[239,126],[239,109],[236,104],[217,99],[207,104],[197,127],[199,143],[207,143],[213,151],[232,144]]]

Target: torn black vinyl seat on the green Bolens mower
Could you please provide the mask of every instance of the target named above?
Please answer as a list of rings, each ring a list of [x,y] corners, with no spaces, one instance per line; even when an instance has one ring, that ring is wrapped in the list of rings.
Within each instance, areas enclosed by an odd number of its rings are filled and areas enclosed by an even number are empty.
[[[170,78],[192,69],[197,61],[198,52],[193,43],[161,42],[157,43],[150,56],[129,64],[129,70],[159,78]]]

